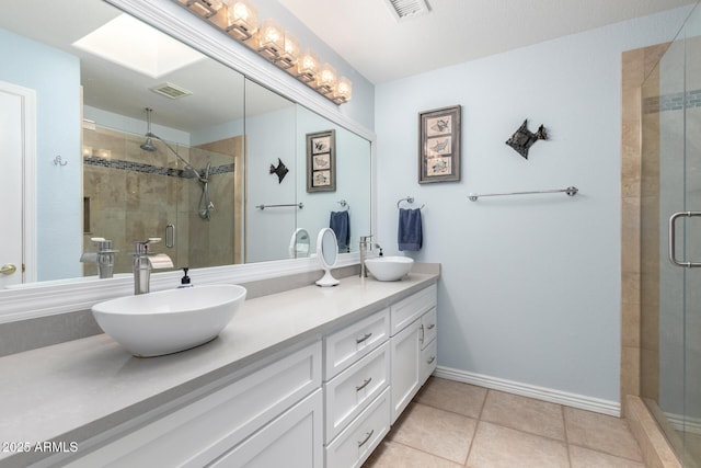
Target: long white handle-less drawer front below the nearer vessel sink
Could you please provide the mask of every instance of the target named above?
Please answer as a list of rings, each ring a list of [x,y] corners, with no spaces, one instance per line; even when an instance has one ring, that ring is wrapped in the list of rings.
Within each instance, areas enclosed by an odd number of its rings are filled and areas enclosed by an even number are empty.
[[[223,385],[68,466],[205,466],[321,387],[321,342]]]

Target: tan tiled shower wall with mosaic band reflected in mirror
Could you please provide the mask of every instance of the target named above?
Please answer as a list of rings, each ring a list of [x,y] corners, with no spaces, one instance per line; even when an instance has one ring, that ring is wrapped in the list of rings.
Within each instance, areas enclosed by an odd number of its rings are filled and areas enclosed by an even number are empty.
[[[231,138],[228,147],[240,148],[237,146],[240,139]],[[166,248],[163,240],[154,246],[154,251],[168,253],[175,267],[233,263],[237,155],[176,148],[198,170],[211,162],[209,194],[216,212],[210,220],[204,220],[197,212],[200,183],[183,173],[183,163],[161,141],[153,140],[156,152],[143,151],[142,142],[139,135],[101,127],[83,129],[83,197],[89,199],[84,212],[89,224],[83,235],[84,250],[94,250],[91,237],[113,240],[114,248],[119,250],[115,273],[128,273],[134,242],[149,237],[164,238],[165,227],[173,224],[175,247]],[[83,274],[96,274],[96,266],[84,264]]]

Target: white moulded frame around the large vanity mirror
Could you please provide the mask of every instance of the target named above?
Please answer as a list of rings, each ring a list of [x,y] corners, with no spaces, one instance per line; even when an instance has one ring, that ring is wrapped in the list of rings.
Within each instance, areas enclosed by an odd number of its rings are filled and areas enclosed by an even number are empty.
[[[251,54],[232,39],[225,39],[205,21],[185,11],[172,0],[103,0],[133,16],[163,31],[203,54],[243,73],[261,85],[290,99],[335,124],[370,141],[370,231],[377,226],[376,145],[374,132],[343,115],[337,106],[309,91],[274,65]],[[336,267],[359,263],[359,253],[338,254]],[[197,283],[243,283],[307,273],[319,270],[318,259],[287,259],[271,262],[235,264],[198,269]],[[180,272],[157,273],[151,277],[151,290],[175,287]],[[89,310],[95,303],[134,294],[134,278],[79,279],[43,282],[18,289],[0,290],[0,323]]]

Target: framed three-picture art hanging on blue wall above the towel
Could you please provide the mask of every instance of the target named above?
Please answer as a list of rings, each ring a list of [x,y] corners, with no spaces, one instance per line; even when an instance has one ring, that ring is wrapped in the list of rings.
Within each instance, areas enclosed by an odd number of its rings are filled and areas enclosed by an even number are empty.
[[[418,183],[460,181],[460,105],[418,114]]]

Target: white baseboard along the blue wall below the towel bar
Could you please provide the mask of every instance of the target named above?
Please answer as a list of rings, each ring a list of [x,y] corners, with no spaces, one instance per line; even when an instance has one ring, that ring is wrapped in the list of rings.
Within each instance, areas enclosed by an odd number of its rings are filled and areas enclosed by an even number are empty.
[[[565,407],[594,411],[618,418],[621,415],[621,403],[618,401],[601,400],[598,398],[586,397],[584,395],[568,393],[566,391],[537,387],[533,385],[505,380],[482,374],[468,373],[444,366],[438,366],[433,375],[449,380],[457,380],[493,390],[520,395],[521,397],[529,397],[537,400],[549,401],[551,403],[563,404]]]

